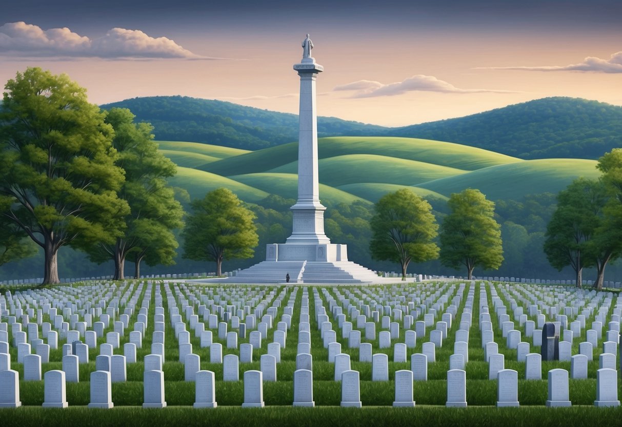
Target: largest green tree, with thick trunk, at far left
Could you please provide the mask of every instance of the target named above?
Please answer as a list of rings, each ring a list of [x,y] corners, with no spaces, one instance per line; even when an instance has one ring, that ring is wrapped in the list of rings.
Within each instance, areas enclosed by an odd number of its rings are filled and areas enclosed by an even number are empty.
[[[44,250],[43,284],[60,283],[64,245],[113,242],[129,211],[116,192],[114,131],[67,75],[27,68],[6,83],[0,113],[2,215]]]

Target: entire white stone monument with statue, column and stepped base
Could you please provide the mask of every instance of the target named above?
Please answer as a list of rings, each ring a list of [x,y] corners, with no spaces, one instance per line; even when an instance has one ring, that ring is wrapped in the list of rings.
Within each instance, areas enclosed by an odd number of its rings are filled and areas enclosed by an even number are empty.
[[[313,43],[307,34],[302,42],[302,60],[294,64],[300,76],[300,125],[298,146],[298,199],[291,207],[292,235],[285,243],[266,247],[266,261],[227,281],[239,283],[370,283],[378,275],[348,261],[346,245],[330,243],[324,233],[324,211],[320,203],[317,156],[317,111],[315,82],[324,67],[311,56]]]

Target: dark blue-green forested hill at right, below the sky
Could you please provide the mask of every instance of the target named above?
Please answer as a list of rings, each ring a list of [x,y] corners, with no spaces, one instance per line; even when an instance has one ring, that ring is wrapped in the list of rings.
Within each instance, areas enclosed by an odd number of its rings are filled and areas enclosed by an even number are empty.
[[[622,106],[581,98],[542,98],[391,129],[389,134],[452,141],[521,159],[598,159],[622,147]]]

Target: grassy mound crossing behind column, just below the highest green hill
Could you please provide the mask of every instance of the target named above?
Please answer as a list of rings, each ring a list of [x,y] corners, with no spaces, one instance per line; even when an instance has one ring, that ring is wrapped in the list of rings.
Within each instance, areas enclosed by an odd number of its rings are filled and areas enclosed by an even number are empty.
[[[359,182],[414,185],[466,172],[453,167],[378,154],[346,154],[320,159],[318,169],[322,182],[333,187]],[[295,174],[298,172],[298,162],[288,163],[270,172]]]

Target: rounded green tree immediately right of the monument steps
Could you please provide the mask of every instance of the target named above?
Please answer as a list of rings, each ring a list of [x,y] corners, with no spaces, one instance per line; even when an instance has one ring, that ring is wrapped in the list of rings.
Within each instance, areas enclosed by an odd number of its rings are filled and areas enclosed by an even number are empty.
[[[369,250],[375,260],[399,262],[402,280],[411,261],[420,263],[439,256],[434,242],[439,225],[432,207],[409,189],[385,194],[375,205],[371,218]]]

